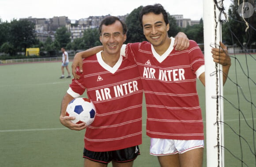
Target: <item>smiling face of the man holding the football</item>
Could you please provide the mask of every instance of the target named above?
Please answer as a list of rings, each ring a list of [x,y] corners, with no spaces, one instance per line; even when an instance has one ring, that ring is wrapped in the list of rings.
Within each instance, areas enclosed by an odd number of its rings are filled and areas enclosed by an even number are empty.
[[[125,40],[126,34],[123,34],[123,26],[119,21],[111,25],[102,25],[100,41],[104,54],[120,56],[120,49]]]

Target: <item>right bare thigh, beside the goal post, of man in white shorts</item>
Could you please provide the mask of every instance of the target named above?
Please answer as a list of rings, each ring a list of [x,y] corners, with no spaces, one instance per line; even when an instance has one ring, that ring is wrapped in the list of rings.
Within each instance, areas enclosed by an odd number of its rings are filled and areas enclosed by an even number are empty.
[[[203,148],[191,149],[180,154],[181,167],[202,167]]]

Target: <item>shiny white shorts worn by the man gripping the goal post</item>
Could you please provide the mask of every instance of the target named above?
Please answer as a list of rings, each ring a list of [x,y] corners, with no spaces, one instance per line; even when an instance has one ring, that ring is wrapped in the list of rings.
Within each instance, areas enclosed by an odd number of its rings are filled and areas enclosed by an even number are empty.
[[[163,138],[151,138],[150,154],[164,156],[181,154],[192,149],[203,148],[203,140],[171,140]]]

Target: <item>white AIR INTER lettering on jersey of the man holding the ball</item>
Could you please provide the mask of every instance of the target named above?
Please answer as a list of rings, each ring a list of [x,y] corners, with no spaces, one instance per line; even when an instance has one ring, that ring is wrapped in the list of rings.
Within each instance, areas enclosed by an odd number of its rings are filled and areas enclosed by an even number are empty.
[[[95,91],[96,93],[96,101],[106,100],[112,98],[112,91],[114,92],[115,97],[120,97],[125,94],[133,93],[134,91],[138,91],[138,82],[132,81],[120,85],[115,85],[113,87],[105,87],[102,89],[98,89]]]

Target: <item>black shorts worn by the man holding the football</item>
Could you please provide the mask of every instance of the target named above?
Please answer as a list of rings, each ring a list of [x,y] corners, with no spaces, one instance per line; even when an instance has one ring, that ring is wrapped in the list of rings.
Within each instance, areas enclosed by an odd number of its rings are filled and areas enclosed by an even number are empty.
[[[83,149],[83,158],[104,164],[108,164],[111,161],[118,163],[130,162],[135,160],[138,155],[140,155],[138,145],[126,149],[106,152],[94,152]]]

